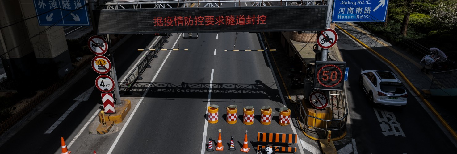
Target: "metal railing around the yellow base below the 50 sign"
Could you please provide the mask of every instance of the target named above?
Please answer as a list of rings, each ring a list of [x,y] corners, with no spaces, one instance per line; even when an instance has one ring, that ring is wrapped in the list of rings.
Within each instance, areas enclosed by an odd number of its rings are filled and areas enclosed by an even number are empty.
[[[298,109],[298,121],[304,124],[304,128],[302,127],[300,129],[302,129],[302,131],[305,133],[308,133],[311,130],[310,128],[314,128],[316,133],[325,133],[318,134],[319,136],[326,136],[326,133],[329,130],[332,131],[332,134],[335,134],[336,136],[341,136],[343,133],[345,133],[348,107],[344,89],[342,91],[330,91],[329,105],[333,113],[331,120],[308,115],[307,111],[303,107],[302,100],[298,96],[296,102],[296,109]],[[320,120],[325,123],[325,128],[309,125],[308,121],[312,118],[315,118],[316,121]]]

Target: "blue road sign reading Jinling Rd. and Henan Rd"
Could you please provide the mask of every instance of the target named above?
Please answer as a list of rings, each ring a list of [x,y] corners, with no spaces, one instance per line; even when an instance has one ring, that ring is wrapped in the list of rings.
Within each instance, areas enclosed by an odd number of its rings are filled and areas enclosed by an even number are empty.
[[[333,22],[384,22],[389,0],[335,0]]]

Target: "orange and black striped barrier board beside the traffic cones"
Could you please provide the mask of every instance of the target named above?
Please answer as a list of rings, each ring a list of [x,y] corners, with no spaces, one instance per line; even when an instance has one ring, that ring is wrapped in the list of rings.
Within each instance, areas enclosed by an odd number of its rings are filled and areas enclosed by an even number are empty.
[[[272,146],[271,148],[279,152],[297,152],[297,134],[290,133],[257,133],[257,149],[264,148],[271,143],[287,143],[295,145],[294,147]],[[265,144],[260,145],[259,144]]]

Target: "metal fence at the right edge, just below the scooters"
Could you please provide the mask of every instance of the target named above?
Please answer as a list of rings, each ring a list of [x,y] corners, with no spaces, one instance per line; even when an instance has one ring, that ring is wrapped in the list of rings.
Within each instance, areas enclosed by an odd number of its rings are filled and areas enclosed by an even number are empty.
[[[435,72],[430,89],[457,88],[457,70]]]

